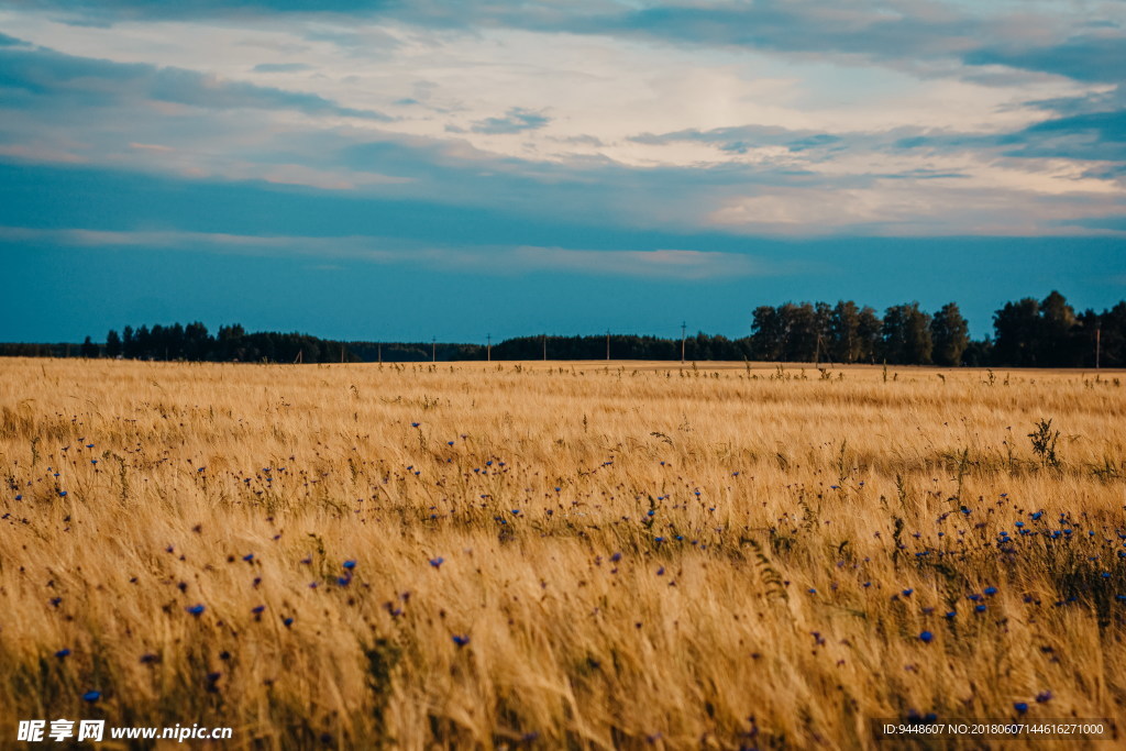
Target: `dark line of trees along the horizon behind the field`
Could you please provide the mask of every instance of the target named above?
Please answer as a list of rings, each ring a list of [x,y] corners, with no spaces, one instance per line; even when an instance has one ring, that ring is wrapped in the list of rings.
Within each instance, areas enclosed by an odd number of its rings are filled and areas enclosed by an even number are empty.
[[[614,359],[887,363],[976,367],[1126,367],[1126,301],[1097,313],[1076,313],[1058,292],[1026,297],[993,314],[993,334],[971,339],[957,304],[933,313],[919,303],[892,305],[881,315],[852,301],[761,305],[751,333],[670,339],[635,334],[516,337],[491,348],[448,342],[333,341],[302,333],[248,332],[199,322],[111,330],[72,345],[0,345],[0,355],[122,357],[151,360],[270,363],[408,363],[429,360]]]

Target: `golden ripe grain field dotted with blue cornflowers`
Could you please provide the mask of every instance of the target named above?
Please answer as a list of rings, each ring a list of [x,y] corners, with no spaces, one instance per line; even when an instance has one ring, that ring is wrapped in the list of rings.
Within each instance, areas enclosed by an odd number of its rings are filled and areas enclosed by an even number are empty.
[[[1124,379],[6,359],[0,745],[1121,742]]]

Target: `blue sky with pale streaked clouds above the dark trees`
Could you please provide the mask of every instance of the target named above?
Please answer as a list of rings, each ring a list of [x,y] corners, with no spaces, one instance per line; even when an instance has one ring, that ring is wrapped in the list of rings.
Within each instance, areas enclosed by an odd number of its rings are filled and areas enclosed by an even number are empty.
[[[0,341],[1126,298],[1117,0],[0,0]]]

